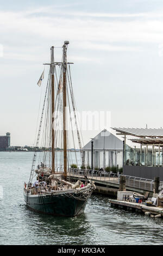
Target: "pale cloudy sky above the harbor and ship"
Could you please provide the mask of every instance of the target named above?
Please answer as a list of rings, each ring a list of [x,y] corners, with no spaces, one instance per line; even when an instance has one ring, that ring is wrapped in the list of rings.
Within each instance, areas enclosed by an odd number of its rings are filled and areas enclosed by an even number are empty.
[[[36,83],[64,40],[79,112],[110,111],[110,127],[163,127],[162,1],[0,1],[0,32],[0,135],[11,145],[34,144],[46,85]],[[98,133],[83,131],[84,144]]]

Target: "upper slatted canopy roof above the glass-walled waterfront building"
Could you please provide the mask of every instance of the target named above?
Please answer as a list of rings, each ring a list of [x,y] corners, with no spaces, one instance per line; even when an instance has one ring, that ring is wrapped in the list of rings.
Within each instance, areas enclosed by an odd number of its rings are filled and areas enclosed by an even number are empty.
[[[163,129],[147,128],[112,128],[116,130],[117,135],[130,135],[135,137],[163,138]]]

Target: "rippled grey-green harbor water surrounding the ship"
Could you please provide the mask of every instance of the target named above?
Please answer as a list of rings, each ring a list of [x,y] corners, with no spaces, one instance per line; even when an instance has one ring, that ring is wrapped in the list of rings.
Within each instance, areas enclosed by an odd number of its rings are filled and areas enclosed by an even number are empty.
[[[22,191],[32,155],[0,152],[0,245],[163,244],[162,220],[111,208],[108,197],[92,195],[85,213],[74,218],[27,209]]]

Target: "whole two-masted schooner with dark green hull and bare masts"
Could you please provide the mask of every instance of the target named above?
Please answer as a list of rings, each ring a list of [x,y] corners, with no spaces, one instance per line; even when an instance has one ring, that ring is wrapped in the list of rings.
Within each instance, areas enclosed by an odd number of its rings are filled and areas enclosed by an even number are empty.
[[[24,182],[23,195],[28,208],[34,211],[73,217],[84,212],[87,199],[96,186],[90,180],[86,168],[83,170],[83,180],[80,179],[79,168],[76,169],[78,180],[71,182],[70,179],[72,167],[70,160],[72,157],[68,145],[71,144],[70,142],[75,144],[74,130],[77,134],[82,165],[84,164],[84,156],[72,88],[70,64],[73,63],[67,62],[68,44],[69,41],[64,41],[61,62],[54,61],[54,46],[52,46],[51,62],[44,64],[49,67],[47,87],[36,137],[30,178],[27,183]],[[71,127],[76,126],[76,129],[70,129],[71,136],[69,137],[70,132],[67,126],[72,123],[72,117],[70,115],[68,120],[68,111],[71,112],[71,109],[74,114],[74,122]],[[44,151],[38,152],[41,136]],[[76,150],[73,154],[75,157],[72,161],[77,160]]]

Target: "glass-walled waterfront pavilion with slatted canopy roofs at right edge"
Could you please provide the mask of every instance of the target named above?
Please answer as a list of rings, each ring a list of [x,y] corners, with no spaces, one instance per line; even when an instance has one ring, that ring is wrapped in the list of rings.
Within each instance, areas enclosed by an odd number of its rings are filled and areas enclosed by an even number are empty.
[[[161,166],[163,167],[163,129],[147,129],[147,128],[112,128],[116,130],[116,135],[123,135],[123,165],[132,164],[134,165],[145,165],[145,166]],[[133,143],[139,143],[141,145],[139,152],[136,147],[134,150],[134,157],[128,157],[128,150],[126,148],[127,136],[133,136],[135,138],[129,138]],[[142,148],[145,146],[146,148]],[[152,152],[148,148],[152,146]],[[162,151],[162,153],[161,153]],[[150,155],[151,154],[151,155]],[[139,160],[137,160],[139,159]],[[131,161],[132,160],[132,161]],[[139,162],[139,163],[137,163]]]

